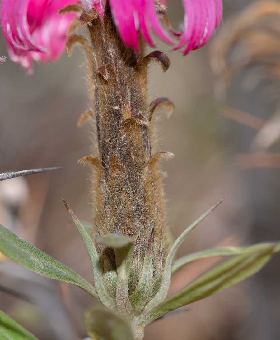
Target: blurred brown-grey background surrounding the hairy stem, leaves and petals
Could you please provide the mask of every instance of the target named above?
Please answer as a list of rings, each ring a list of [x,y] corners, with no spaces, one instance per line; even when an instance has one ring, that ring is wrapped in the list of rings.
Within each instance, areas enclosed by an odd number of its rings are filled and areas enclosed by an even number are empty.
[[[159,131],[159,151],[175,154],[163,165],[174,237],[227,196],[190,234],[178,256],[215,245],[280,239],[280,1],[274,2],[273,20],[257,26],[258,15],[251,23],[249,12],[240,19],[254,2],[224,0],[223,23],[209,44],[183,57],[159,43],[158,49],[169,53],[171,67],[167,73],[151,67],[151,100],[168,97],[176,105],[170,120],[162,116]],[[181,0],[170,1],[168,13],[177,28],[183,21]],[[273,36],[273,47],[254,50],[250,41],[255,32]],[[262,40],[257,42],[264,47]],[[8,55],[2,32],[0,51]],[[83,63],[76,48],[71,58],[64,53],[55,64],[34,63],[30,77],[9,58],[1,65],[0,173],[63,169],[0,182],[0,223],[92,283],[90,260],[61,201],[90,225],[90,169],[77,164],[91,153],[93,139],[88,125],[77,128],[89,104]],[[266,68],[270,73],[264,73]],[[201,260],[176,273],[169,294],[218,260]],[[154,321],[144,339],[279,340],[279,260],[276,254],[245,282]],[[77,287],[0,258],[0,309],[40,340],[84,338],[83,313],[93,303]]]

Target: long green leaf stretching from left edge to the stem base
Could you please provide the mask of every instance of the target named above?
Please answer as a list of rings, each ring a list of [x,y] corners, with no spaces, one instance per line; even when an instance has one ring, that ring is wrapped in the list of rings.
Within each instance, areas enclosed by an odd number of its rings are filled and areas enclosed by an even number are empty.
[[[94,287],[73,270],[26,242],[0,224],[0,252],[42,276],[64,281],[97,297]]]

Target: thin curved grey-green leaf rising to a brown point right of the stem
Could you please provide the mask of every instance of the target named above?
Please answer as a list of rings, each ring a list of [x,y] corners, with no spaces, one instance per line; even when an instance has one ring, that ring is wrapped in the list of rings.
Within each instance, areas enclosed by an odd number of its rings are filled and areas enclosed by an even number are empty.
[[[199,216],[198,219],[196,219],[185,231],[176,239],[176,241],[173,243],[167,259],[166,259],[166,265],[164,269],[164,273],[162,275],[162,285],[157,294],[154,296],[154,298],[146,305],[144,308],[144,313],[150,311],[153,309],[156,305],[158,305],[161,301],[163,301],[167,295],[169,286],[170,286],[170,280],[171,280],[171,266],[172,266],[172,260],[173,257],[177,251],[177,249],[180,247],[184,239],[189,235],[189,233],[200,223],[202,222],[205,217],[207,217],[218,205],[220,205],[223,202],[224,199],[220,200],[217,204],[213,205],[210,209],[206,210],[202,215]]]

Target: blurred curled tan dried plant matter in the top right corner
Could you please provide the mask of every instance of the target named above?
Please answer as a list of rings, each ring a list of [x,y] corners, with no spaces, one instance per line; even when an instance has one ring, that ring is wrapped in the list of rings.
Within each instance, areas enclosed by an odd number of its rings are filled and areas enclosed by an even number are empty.
[[[218,32],[211,47],[211,66],[218,78],[218,95],[232,77],[248,66],[259,66],[256,86],[264,78],[280,79],[280,2],[257,1],[232,17]]]

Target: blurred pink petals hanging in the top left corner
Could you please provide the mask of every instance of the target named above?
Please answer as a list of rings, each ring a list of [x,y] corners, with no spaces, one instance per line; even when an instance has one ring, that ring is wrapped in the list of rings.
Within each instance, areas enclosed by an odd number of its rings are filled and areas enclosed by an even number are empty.
[[[56,61],[75,14],[58,15],[73,0],[2,0],[1,24],[13,61],[32,73],[32,62]]]

